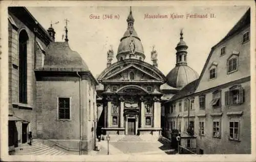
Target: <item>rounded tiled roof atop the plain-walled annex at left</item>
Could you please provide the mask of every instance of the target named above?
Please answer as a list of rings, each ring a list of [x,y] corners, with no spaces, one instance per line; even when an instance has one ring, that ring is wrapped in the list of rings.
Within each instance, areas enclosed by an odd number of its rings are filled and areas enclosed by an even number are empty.
[[[67,42],[51,42],[48,45],[44,68],[73,68],[89,71],[79,53],[71,50]]]

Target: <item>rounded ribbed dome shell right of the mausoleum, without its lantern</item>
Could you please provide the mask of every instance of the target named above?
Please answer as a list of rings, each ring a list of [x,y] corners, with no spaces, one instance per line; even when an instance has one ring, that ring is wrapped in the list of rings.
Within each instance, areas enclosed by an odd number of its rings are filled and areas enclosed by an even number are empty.
[[[198,73],[187,65],[176,66],[166,76],[169,86],[181,89],[198,79]]]

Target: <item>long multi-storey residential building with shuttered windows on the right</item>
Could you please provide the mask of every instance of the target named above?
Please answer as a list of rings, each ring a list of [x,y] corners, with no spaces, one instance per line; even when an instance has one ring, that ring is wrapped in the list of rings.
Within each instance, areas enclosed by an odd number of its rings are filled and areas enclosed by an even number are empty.
[[[189,126],[196,136],[197,153],[251,153],[250,9],[211,48],[199,79],[165,102],[165,107],[180,102],[184,109],[174,116],[181,118],[182,133],[191,134]]]

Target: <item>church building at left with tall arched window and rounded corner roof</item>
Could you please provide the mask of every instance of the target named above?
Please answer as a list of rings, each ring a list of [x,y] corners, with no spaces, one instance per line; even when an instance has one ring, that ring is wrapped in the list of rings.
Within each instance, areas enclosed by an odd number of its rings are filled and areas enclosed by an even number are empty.
[[[33,138],[76,154],[94,148],[97,80],[25,7],[8,8],[9,151]]]

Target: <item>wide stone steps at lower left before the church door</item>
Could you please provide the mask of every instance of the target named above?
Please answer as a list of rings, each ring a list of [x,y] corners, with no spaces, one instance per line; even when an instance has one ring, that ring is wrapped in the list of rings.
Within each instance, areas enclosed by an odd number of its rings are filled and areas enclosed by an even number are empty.
[[[32,142],[32,145],[22,144],[15,150],[15,155],[69,155],[69,153],[49,147],[40,141]]]

